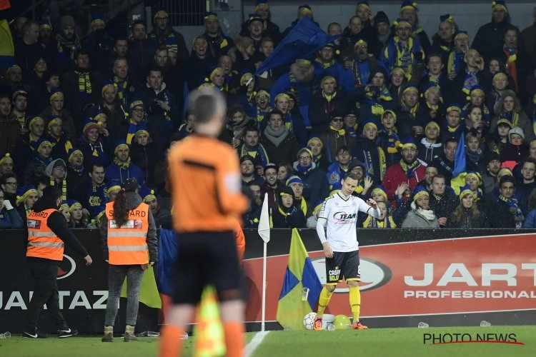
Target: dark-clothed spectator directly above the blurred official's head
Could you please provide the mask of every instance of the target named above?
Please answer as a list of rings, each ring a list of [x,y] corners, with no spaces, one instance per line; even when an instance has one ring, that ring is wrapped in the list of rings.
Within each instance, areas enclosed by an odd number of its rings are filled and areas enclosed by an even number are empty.
[[[192,53],[184,61],[184,80],[188,89],[193,91],[199,87],[205,76],[210,74],[212,66],[216,66],[216,59],[208,53],[208,42],[204,36],[194,37]]]

